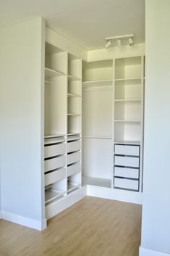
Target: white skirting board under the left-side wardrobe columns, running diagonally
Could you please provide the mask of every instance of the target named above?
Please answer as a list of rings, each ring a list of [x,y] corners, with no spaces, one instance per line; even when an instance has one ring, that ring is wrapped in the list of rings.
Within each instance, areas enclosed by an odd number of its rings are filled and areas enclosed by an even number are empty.
[[[81,189],[77,189],[74,192],[70,193],[67,197],[61,198],[56,202],[52,202],[49,205],[46,205],[46,219],[54,217],[59,212],[67,209],[68,207],[74,205],[76,202],[80,201],[82,198],[87,196],[86,186],[83,186]]]

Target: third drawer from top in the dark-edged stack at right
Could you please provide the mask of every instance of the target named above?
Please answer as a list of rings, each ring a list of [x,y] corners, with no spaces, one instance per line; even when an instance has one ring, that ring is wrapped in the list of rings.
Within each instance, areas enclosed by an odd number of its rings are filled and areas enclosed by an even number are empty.
[[[114,176],[125,178],[139,178],[139,169],[115,167]]]

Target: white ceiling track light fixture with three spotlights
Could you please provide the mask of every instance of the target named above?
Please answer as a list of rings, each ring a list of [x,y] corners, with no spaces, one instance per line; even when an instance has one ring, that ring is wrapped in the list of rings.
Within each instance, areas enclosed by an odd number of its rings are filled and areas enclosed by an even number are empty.
[[[105,38],[105,40],[106,40],[105,48],[108,49],[109,46],[111,46],[111,43],[114,42],[114,41],[116,41],[116,44],[117,44],[118,47],[121,47],[123,40],[128,40],[129,41],[129,46],[134,46],[133,37],[134,37],[134,35],[107,37],[107,38]]]

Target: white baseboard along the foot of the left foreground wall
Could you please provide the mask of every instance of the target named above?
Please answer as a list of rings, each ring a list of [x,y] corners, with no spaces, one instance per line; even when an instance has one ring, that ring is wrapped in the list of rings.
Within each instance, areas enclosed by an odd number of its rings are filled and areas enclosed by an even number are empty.
[[[39,231],[42,231],[43,229],[46,228],[46,219],[43,220],[43,221],[33,220],[33,219],[30,219],[30,218],[25,218],[23,216],[16,215],[16,214],[13,214],[11,212],[5,212],[5,211],[1,211],[1,218],[3,220],[8,220],[8,221],[11,221],[13,223],[17,223],[17,224],[20,224],[22,226],[26,226],[28,228],[37,229]]]

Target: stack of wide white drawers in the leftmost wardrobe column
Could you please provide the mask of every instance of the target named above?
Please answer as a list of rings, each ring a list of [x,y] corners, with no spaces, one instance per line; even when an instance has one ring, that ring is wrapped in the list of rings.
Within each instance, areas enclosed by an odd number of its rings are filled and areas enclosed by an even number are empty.
[[[66,178],[66,143],[64,137],[45,139],[44,145],[44,172],[46,195],[51,189],[57,188],[57,182]],[[64,187],[59,189],[64,190]],[[56,189],[57,190],[57,189]],[[48,193],[47,193],[48,192]],[[54,197],[54,193],[53,193]],[[59,193],[57,193],[59,197]],[[51,198],[54,199],[54,198]],[[50,201],[50,198],[48,198]]]

